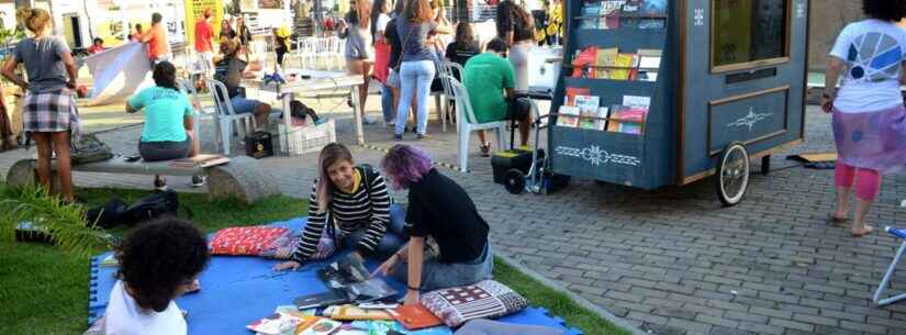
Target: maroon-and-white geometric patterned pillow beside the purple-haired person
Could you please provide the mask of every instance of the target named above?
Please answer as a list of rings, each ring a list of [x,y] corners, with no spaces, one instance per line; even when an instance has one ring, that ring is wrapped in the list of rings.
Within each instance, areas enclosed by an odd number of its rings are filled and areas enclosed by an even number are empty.
[[[506,286],[493,281],[443,289],[422,294],[422,304],[450,327],[469,320],[494,319],[521,311],[528,300]]]

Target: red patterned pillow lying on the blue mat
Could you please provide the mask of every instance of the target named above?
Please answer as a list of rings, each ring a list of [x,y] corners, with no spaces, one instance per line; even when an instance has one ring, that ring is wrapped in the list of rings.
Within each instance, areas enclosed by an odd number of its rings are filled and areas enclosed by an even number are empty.
[[[254,255],[268,248],[275,241],[289,234],[284,227],[249,226],[217,231],[209,246],[213,255]]]

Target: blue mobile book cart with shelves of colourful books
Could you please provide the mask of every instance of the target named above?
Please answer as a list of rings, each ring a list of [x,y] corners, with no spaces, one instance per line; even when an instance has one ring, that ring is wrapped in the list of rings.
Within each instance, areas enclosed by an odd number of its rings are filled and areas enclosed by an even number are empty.
[[[803,142],[808,0],[563,2],[563,75],[536,167],[641,189],[716,175],[734,205],[752,159],[768,174],[772,153]]]

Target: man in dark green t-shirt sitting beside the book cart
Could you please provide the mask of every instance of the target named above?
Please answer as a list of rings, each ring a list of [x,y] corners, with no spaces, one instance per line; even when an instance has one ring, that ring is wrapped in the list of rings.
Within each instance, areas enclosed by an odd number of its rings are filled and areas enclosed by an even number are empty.
[[[479,123],[495,122],[506,119],[511,101],[515,101],[515,71],[506,59],[506,42],[501,38],[488,42],[483,54],[466,62],[463,86],[469,92],[476,119]],[[528,143],[528,125],[532,120],[526,113],[519,120],[519,141],[523,146]],[[481,156],[489,156],[491,143],[484,131],[478,131],[481,142]]]

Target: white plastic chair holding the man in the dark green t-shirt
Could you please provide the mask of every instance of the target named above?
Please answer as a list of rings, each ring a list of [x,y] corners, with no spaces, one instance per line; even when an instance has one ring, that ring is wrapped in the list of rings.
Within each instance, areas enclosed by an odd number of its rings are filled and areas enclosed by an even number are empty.
[[[469,170],[469,138],[474,131],[495,130],[497,133],[497,149],[506,148],[506,121],[494,121],[486,123],[478,123],[476,114],[472,111],[472,103],[469,99],[469,91],[456,78],[447,78],[452,89],[456,99],[456,113],[459,125],[459,148],[457,155],[459,156],[459,170],[467,172]]]

